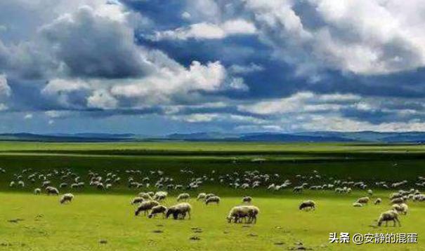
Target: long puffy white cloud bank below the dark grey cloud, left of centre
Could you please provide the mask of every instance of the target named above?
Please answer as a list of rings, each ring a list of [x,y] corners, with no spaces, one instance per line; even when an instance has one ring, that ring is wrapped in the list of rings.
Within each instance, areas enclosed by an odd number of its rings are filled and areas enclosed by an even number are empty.
[[[135,79],[53,79],[42,90],[63,108],[115,109],[171,104],[214,102],[202,93],[219,90],[246,91],[243,79],[229,76],[220,62],[202,65],[194,61],[186,68],[163,53],[149,57],[152,72]]]

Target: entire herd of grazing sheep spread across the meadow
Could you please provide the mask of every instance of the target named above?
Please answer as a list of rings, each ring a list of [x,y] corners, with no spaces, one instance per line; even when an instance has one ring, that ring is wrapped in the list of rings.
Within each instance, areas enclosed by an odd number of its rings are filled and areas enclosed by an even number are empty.
[[[6,173],[6,169],[0,168],[0,175]],[[39,195],[43,191],[47,195],[60,195],[60,190],[67,191],[60,198],[60,203],[70,203],[74,195],[70,191],[84,191],[90,187],[99,191],[111,191],[112,189],[136,189],[152,190],[142,192],[131,200],[131,205],[136,206],[134,215],[143,213],[148,218],[162,215],[174,219],[190,219],[192,206],[190,205],[190,192],[202,190],[202,186],[214,185],[228,187],[228,189],[249,191],[263,189],[270,194],[280,191],[292,191],[294,194],[303,194],[303,191],[334,191],[335,194],[351,194],[353,190],[365,191],[367,196],[358,198],[353,202],[353,207],[363,208],[370,203],[373,196],[372,187],[377,189],[398,189],[389,196],[391,208],[382,212],[377,219],[378,225],[383,222],[393,221],[400,225],[400,214],[407,215],[407,201],[425,201],[425,195],[419,189],[425,186],[425,177],[417,177],[414,182],[407,180],[387,182],[374,180],[374,182],[355,181],[351,177],[339,179],[329,175],[321,175],[317,170],[305,175],[294,175],[292,177],[281,177],[280,174],[262,173],[259,170],[247,170],[244,172],[221,172],[211,170],[206,174],[199,175],[188,168],[181,169],[172,175],[166,175],[162,170],[138,170],[138,169],[116,169],[116,170],[89,170],[86,175],[79,175],[70,168],[46,169],[34,171],[32,168],[21,170],[12,174],[9,186],[13,189],[33,188],[34,194]],[[409,188],[407,190],[403,190]],[[156,191],[156,192],[154,192]],[[166,206],[164,201],[169,192],[178,192],[176,205]],[[205,205],[220,205],[221,197],[216,194],[197,193],[196,201],[202,201]],[[230,209],[228,222],[256,223],[259,208],[252,205],[253,198],[244,196],[242,205]],[[374,205],[382,203],[381,198],[374,199]],[[317,205],[314,201],[302,201],[299,210],[315,210]]]

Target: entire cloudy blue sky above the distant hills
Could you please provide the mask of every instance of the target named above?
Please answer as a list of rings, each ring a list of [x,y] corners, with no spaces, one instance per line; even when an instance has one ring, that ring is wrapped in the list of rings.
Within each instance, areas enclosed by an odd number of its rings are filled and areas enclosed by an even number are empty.
[[[0,133],[425,130],[423,0],[2,0]]]

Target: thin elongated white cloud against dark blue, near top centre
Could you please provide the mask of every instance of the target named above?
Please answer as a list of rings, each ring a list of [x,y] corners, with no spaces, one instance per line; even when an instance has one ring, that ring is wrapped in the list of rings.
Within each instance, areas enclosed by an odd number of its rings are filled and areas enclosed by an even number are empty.
[[[242,19],[228,20],[218,25],[200,22],[188,27],[156,32],[152,39],[155,41],[164,39],[224,39],[226,36],[237,34],[256,34],[256,27],[251,22]]]

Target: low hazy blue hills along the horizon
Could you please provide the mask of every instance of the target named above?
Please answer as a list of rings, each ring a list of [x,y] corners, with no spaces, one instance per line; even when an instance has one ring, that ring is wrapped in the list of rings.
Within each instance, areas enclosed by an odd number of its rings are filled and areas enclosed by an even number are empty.
[[[425,133],[378,133],[363,132],[302,132],[302,133],[188,133],[165,136],[148,136],[108,133],[76,133],[38,135],[32,133],[0,134],[0,141],[42,141],[42,142],[135,142],[135,141],[218,141],[218,142],[425,142]]]

